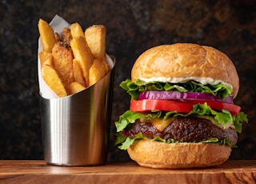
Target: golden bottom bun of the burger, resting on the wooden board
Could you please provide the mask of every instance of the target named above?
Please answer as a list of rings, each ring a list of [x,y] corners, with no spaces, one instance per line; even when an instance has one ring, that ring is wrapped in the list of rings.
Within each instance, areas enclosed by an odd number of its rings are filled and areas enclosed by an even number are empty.
[[[214,143],[171,143],[139,140],[128,149],[140,166],[158,169],[217,166],[230,157],[231,147]]]

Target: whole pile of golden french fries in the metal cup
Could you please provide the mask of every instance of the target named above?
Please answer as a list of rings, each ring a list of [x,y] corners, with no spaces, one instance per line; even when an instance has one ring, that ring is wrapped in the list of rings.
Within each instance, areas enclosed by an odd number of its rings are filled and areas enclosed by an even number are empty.
[[[106,62],[106,27],[82,30],[77,22],[55,33],[39,19],[43,50],[39,53],[42,78],[58,97],[78,93],[98,82],[110,71]]]

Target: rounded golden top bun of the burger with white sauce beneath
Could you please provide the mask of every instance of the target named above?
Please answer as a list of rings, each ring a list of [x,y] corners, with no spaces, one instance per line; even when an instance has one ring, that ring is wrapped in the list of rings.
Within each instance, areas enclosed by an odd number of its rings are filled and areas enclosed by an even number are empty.
[[[222,82],[239,90],[239,78],[234,63],[219,50],[192,43],[155,46],[142,53],[131,70],[131,79],[146,82],[187,82],[202,84]]]

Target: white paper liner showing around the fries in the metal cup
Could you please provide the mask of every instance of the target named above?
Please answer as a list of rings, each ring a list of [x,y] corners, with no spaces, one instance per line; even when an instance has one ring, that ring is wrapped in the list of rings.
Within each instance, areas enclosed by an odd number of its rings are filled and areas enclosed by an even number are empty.
[[[54,29],[54,32],[57,32],[58,34],[62,33],[62,29],[64,27],[70,27],[70,24],[66,22],[63,18],[58,16],[56,14],[54,18],[50,22],[50,26]],[[46,84],[46,82],[42,78],[41,73],[41,64],[40,64],[40,58],[39,53],[42,51],[42,41],[39,37],[38,39],[38,83],[39,83],[39,91],[43,98],[59,98],[57,94],[54,93],[53,90],[50,89],[50,87]],[[114,67],[114,62],[112,62],[111,58],[106,54],[106,61],[110,64],[110,69]]]

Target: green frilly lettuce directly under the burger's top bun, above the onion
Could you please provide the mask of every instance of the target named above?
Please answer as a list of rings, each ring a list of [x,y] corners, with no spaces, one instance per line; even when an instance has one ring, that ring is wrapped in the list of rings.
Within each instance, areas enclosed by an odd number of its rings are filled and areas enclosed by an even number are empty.
[[[203,85],[200,82],[189,81],[186,83],[170,83],[170,82],[144,82],[137,80],[132,82],[130,79],[123,81],[120,86],[130,94],[132,99],[138,99],[141,91],[147,90],[164,90],[164,91],[181,91],[181,92],[201,92],[218,95],[218,98],[226,98],[232,92],[229,86],[222,83],[216,85]]]

